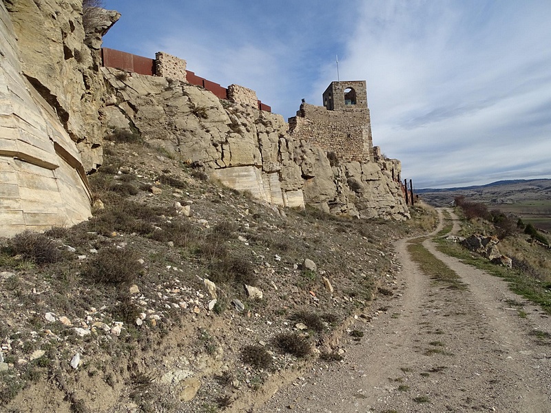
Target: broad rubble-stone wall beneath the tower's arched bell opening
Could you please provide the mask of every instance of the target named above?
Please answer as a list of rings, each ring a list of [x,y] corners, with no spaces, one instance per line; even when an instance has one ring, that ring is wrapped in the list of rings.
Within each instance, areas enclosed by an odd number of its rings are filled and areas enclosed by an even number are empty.
[[[373,161],[369,109],[327,110],[302,103],[297,116],[289,119],[295,139],[308,141],[344,161]]]

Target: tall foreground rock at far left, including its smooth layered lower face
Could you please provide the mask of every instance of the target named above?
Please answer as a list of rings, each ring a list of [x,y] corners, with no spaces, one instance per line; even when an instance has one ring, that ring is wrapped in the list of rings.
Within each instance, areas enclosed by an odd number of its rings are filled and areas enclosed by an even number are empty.
[[[84,41],[79,0],[0,2],[0,235],[90,216],[105,86]]]

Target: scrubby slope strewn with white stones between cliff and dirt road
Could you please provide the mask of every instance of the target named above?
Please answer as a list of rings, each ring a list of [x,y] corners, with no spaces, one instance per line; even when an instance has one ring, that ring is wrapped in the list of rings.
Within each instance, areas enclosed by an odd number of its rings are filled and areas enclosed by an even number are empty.
[[[0,411],[260,403],[341,357],[351,317],[397,287],[393,240],[419,232],[255,202],[143,142],[106,155],[94,218],[1,240]]]

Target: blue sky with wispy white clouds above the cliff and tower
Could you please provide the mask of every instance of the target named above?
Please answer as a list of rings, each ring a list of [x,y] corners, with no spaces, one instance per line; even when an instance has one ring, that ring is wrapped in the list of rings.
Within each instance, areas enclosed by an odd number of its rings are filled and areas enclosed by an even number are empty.
[[[366,80],[373,144],[417,188],[551,178],[551,1],[105,0],[104,38],[256,90],[284,118]]]

